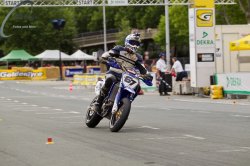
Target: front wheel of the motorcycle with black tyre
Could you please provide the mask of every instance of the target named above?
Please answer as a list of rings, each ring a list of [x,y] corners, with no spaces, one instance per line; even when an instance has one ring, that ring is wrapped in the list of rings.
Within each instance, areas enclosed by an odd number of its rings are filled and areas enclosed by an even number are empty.
[[[109,129],[112,132],[118,132],[123,127],[130,113],[130,100],[128,98],[123,98],[121,102],[122,105],[114,114],[112,114],[109,121]]]

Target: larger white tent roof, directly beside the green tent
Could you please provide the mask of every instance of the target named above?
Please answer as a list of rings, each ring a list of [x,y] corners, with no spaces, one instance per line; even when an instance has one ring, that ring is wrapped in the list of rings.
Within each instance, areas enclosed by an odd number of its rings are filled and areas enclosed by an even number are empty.
[[[58,61],[59,60],[59,50],[45,50],[41,54],[35,56],[36,58],[41,59],[42,61]],[[69,55],[61,52],[62,61],[73,60]]]

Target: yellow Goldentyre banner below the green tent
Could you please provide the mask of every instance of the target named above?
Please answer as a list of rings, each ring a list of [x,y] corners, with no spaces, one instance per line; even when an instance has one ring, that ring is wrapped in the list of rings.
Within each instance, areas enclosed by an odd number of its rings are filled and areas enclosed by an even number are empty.
[[[46,70],[13,69],[0,70],[0,80],[45,80]]]

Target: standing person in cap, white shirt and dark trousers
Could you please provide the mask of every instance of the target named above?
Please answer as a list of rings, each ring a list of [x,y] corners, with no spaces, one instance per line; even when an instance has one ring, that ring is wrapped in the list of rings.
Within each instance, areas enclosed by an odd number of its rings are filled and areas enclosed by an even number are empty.
[[[167,90],[167,83],[166,83],[166,72],[167,72],[167,65],[166,65],[166,54],[165,53],[160,53],[159,55],[159,60],[156,62],[156,76],[157,80],[160,80],[160,85],[159,85],[159,93],[160,96],[165,96],[169,95]]]

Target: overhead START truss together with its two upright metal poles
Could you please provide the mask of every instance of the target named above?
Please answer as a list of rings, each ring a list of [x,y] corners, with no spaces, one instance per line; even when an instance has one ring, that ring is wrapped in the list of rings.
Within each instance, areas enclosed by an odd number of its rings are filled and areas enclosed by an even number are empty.
[[[192,5],[194,0],[0,0],[0,7],[14,7],[21,1],[32,1],[33,7],[96,7],[103,6],[104,50],[107,51],[106,40],[106,6],[165,6],[166,54],[167,65],[170,66],[170,39],[168,8],[172,5]],[[215,0],[217,5],[232,5],[235,0]],[[30,7],[24,3],[22,7]]]

